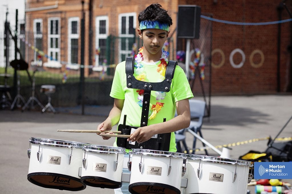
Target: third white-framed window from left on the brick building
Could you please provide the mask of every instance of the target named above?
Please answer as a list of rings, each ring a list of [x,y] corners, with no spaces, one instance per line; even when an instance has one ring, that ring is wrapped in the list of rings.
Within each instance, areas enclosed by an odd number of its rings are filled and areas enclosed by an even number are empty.
[[[78,63],[79,17],[68,20],[68,63]]]

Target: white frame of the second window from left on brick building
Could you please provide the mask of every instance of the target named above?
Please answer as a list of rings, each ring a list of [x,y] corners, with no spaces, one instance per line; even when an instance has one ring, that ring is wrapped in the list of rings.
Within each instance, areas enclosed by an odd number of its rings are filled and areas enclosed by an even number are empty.
[[[58,34],[51,34],[51,20],[58,20]],[[49,17],[48,18],[48,63],[46,67],[61,68],[60,63],[60,46],[61,46],[61,22],[60,17]],[[51,38],[58,38],[58,48],[51,48]],[[58,54],[58,61],[55,60],[55,55],[53,55],[53,60],[51,60],[51,52]],[[45,64],[44,64],[45,65]]]

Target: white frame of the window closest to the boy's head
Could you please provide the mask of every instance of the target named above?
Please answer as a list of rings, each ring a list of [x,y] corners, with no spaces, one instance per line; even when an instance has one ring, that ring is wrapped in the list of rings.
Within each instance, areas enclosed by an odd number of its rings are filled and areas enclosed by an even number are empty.
[[[129,34],[129,17],[133,16],[133,28],[136,29],[136,13],[121,13],[119,14],[119,37],[121,38],[134,38],[134,34]],[[126,17],[126,34],[122,34],[122,17]],[[128,45],[128,41],[126,41],[126,45]],[[130,49],[130,50],[129,50]],[[121,50],[121,39],[119,39],[119,63],[125,59],[122,59],[122,54],[129,56],[131,54],[132,48],[128,48],[126,51]]]

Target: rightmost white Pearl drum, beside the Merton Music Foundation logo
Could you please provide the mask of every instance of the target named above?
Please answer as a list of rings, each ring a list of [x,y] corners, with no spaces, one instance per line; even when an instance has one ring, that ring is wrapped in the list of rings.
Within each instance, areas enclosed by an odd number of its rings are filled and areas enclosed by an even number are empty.
[[[185,194],[246,194],[250,161],[188,154]]]

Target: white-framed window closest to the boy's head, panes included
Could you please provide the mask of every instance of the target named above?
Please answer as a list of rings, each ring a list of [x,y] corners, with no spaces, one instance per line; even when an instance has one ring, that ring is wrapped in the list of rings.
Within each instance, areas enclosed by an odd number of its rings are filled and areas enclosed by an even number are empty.
[[[123,13],[119,15],[119,62],[131,55],[135,42],[136,13]]]

